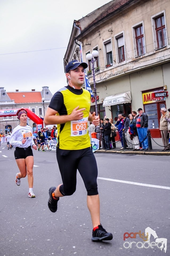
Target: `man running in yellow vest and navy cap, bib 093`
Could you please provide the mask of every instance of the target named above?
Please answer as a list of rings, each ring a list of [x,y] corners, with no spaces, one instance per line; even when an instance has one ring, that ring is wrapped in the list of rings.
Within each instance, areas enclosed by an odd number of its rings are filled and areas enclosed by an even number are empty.
[[[99,125],[99,117],[90,113],[91,95],[82,88],[87,63],[73,60],[66,66],[68,86],[57,91],[46,111],[46,125],[58,125],[56,157],[62,184],[50,187],[48,208],[55,213],[61,197],[72,195],[76,190],[76,173],[79,171],[87,190],[87,206],[92,219],[92,240],[111,240],[100,224],[100,202],[97,187],[97,163],[90,148],[87,132],[88,121]]]

